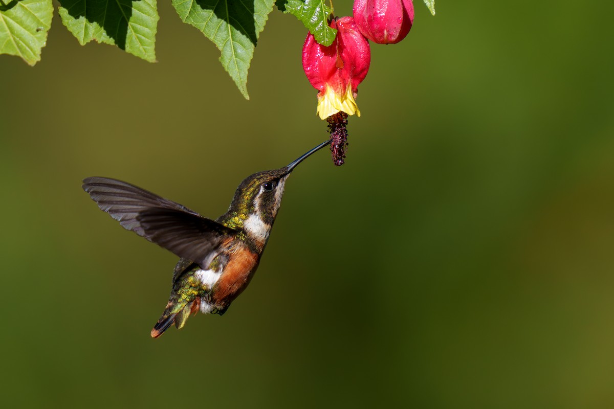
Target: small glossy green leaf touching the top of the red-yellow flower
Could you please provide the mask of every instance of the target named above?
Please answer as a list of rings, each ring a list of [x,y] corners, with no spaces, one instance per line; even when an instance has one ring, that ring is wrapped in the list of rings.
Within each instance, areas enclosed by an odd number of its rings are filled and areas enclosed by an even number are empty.
[[[328,25],[332,10],[324,0],[278,0],[277,8],[302,21],[319,44],[333,44],[337,31]]]

